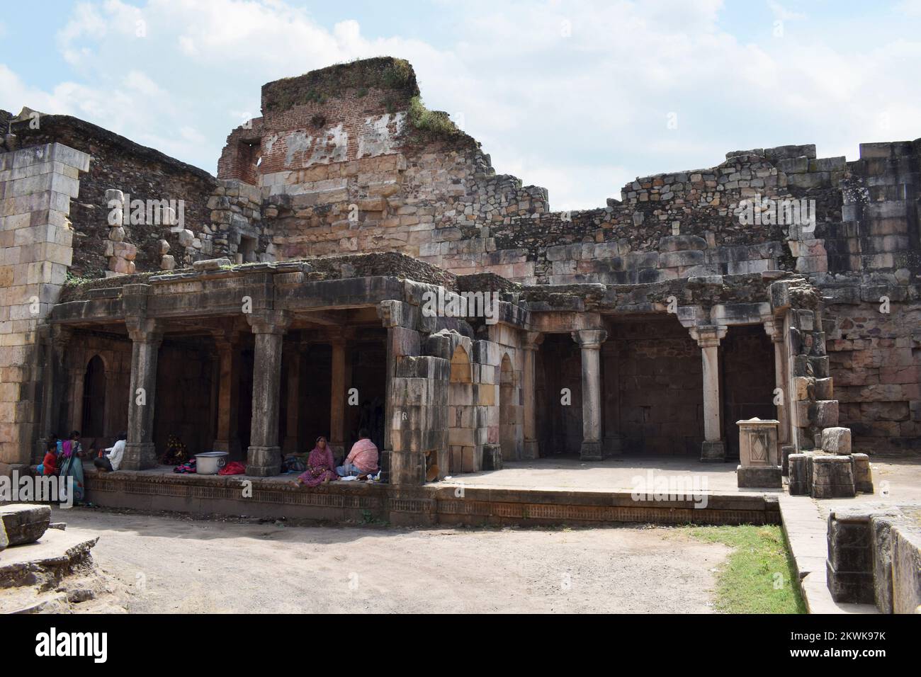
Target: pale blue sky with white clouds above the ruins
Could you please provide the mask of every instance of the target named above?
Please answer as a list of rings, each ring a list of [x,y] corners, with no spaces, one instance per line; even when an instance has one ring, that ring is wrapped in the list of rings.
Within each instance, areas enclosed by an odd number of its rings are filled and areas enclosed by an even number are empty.
[[[921,136],[921,0],[6,3],[0,108],[75,115],[214,173],[262,83],[381,54],[554,209],[729,150],[854,159]]]

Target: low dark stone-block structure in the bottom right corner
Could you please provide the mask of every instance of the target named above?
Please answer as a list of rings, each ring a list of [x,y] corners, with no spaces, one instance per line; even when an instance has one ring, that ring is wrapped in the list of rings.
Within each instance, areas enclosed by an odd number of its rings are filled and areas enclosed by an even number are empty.
[[[921,613],[921,529],[899,508],[834,511],[826,572],[834,601]]]

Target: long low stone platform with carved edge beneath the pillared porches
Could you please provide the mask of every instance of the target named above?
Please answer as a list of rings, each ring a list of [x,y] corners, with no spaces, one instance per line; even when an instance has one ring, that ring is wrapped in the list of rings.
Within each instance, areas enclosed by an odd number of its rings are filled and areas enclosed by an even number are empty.
[[[532,461],[540,464],[540,461]],[[577,461],[572,461],[577,462]],[[605,465],[609,461],[600,461]],[[548,466],[553,463],[548,462]],[[613,463],[612,463],[613,464]],[[735,486],[734,467],[714,470],[708,465],[701,473],[699,461],[648,463],[648,467],[621,467],[616,480],[592,482],[597,473],[579,473],[581,486],[544,485],[532,477],[528,486],[501,485],[518,475],[511,467],[492,473],[471,473],[456,481],[423,486],[394,486],[363,482],[333,482],[313,489],[288,484],[295,475],[251,477],[246,475],[196,475],[172,473],[168,466],[145,471],[97,473],[87,469],[87,496],[92,502],[111,508],[169,510],[201,515],[246,515],[286,519],[332,521],[385,520],[391,524],[430,525],[550,525],[615,524],[623,522],[659,524],[779,524],[776,496],[771,492],[745,492]],[[657,465],[659,470],[652,468]],[[683,467],[683,470],[679,466]],[[669,470],[670,468],[670,470]],[[665,470],[663,470],[665,469]],[[551,476],[554,474],[552,467]],[[714,475],[704,492],[705,506],[695,508],[694,499],[635,499],[632,478],[647,471],[678,475]],[[533,472],[533,471],[529,471]],[[609,471],[610,472],[610,471]],[[564,473],[566,471],[564,470]],[[551,479],[547,477],[546,479]],[[724,490],[723,487],[726,487]]]

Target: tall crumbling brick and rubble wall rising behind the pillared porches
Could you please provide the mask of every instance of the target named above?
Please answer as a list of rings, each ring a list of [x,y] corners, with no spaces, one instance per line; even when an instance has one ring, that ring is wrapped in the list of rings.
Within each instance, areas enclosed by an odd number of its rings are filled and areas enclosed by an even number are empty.
[[[525,285],[796,271],[837,318],[827,348],[855,449],[921,449],[921,142],[865,144],[853,162],[817,158],[814,146],[737,151],[716,168],[638,178],[599,209],[554,213],[544,189],[495,174],[471,137],[416,124],[411,69],[365,87],[331,84],[347,75],[337,68],[264,86],[262,117],[228,136],[216,180],[72,118],[42,116],[35,131],[14,123],[20,146],[61,140],[92,158],[71,211],[72,274],[111,268],[113,189],[186,201],[181,233],[125,227],[137,273],[367,251]],[[755,193],[815,200],[814,233],[741,225],[733,208]]]

